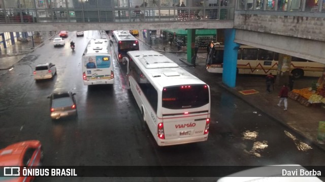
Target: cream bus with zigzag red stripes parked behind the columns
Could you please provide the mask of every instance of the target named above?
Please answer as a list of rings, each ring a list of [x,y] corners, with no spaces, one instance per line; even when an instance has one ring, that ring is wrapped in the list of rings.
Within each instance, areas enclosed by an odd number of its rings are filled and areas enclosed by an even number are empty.
[[[222,73],[224,45],[215,45],[212,62],[206,63],[208,72]],[[279,53],[248,45],[240,45],[237,54],[237,73],[239,74],[277,74]],[[322,75],[325,65],[302,58],[292,57],[290,71],[295,78]]]

